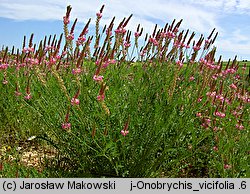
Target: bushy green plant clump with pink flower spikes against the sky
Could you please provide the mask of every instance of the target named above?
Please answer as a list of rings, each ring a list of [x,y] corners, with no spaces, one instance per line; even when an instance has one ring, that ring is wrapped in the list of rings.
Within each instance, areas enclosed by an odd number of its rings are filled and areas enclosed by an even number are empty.
[[[248,176],[249,63],[216,59],[215,29],[102,26],[103,5],[78,35],[71,11],[59,37],[0,50],[3,140],[53,146],[52,177]]]

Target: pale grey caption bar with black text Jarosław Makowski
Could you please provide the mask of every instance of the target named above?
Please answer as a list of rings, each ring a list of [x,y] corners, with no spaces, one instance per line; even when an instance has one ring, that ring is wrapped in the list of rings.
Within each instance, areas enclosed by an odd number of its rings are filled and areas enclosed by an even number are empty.
[[[0,179],[0,193],[249,193],[249,179]]]

